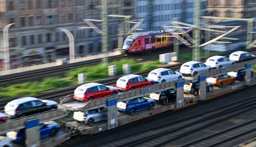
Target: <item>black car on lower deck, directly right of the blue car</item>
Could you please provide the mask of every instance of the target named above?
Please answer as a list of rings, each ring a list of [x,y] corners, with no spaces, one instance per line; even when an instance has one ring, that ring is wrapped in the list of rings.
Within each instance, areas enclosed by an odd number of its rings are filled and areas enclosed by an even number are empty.
[[[176,95],[175,89],[169,89],[162,91],[160,94],[158,92],[152,93],[149,95],[149,97],[154,100],[158,100],[158,102],[161,102],[163,105],[166,105],[168,102],[176,100]]]

